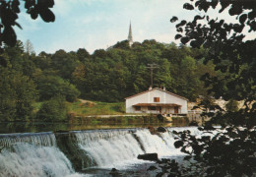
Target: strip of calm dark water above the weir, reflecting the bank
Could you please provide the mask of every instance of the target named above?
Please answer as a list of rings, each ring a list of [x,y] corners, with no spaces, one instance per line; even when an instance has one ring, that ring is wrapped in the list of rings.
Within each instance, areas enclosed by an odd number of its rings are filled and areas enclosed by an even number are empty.
[[[75,131],[94,129],[125,129],[125,128],[147,128],[149,126],[182,127],[187,126],[185,121],[171,123],[45,123],[45,122],[3,122],[0,123],[0,134],[29,133],[29,132],[51,132],[51,131]]]

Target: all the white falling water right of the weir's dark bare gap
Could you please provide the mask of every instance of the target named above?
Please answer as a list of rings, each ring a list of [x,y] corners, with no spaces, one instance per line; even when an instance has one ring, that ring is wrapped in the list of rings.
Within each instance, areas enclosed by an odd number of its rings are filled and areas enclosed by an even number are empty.
[[[196,128],[189,129],[193,134],[199,132]],[[91,163],[91,166],[121,168],[141,163],[142,160],[138,160],[137,156],[143,153],[157,152],[159,157],[184,155],[173,146],[172,130],[174,129],[168,129],[166,133],[159,135],[152,135],[148,129],[77,131],[74,134],[78,147],[88,155],[87,161],[95,162]]]

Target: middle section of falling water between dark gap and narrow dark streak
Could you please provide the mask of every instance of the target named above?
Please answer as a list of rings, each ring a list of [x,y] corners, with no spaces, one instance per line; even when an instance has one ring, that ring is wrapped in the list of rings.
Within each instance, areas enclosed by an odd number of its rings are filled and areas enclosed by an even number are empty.
[[[86,151],[99,167],[120,168],[134,163],[144,153],[140,144],[127,130],[76,132],[79,148]]]

